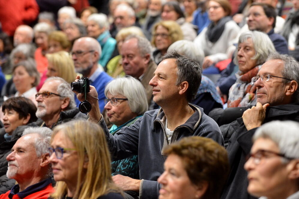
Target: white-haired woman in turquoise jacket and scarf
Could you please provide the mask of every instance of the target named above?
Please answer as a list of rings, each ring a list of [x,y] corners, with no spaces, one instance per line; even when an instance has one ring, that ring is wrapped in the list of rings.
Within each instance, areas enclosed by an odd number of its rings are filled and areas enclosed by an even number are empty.
[[[107,16],[103,13],[91,14],[87,18],[87,33],[88,37],[93,37],[100,43],[102,47],[102,55],[99,64],[106,67],[116,45],[116,40],[113,39],[109,33]]]

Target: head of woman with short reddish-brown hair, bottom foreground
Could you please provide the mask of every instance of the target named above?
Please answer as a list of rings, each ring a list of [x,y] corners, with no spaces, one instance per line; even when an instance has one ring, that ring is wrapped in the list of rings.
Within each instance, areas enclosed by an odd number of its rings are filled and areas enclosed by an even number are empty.
[[[219,198],[229,174],[226,150],[210,138],[182,138],[163,151],[167,155],[159,199]]]

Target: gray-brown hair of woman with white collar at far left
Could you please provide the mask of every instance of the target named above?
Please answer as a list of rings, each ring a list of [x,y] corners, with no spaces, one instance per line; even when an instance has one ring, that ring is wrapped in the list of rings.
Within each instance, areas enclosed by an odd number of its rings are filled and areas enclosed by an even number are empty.
[[[40,73],[36,69],[36,63],[33,58],[28,58],[25,61],[20,61],[16,65],[13,66],[13,71],[16,69],[18,66],[23,66],[26,70],[26,72],[29,74],[30,77],[34,77],[35,80],[32,83],[32,87],[35,87],[39,84],[40,82]]]

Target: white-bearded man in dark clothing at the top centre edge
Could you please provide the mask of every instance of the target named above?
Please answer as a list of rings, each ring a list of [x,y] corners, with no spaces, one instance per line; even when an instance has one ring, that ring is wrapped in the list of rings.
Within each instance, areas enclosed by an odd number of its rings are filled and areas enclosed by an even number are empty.
[[[142,31],[145,37],[151,41],[151,28],[155,23],[161,20],[162,5],[166,0],[150,0],[148,3],[148,11],[146,13],[145,22],[142,26]]]

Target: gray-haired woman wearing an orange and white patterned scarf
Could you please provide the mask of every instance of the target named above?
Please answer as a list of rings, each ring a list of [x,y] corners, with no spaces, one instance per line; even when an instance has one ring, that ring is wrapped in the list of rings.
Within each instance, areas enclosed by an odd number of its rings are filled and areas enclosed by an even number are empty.
[[[234,63],[239,66],[237,80],[229,89],[227,107],[247,107],[256,104],[256,87],[251,79],[257,75],[268,55],[276,52],[267,34],[248,31],[240,35]]]

